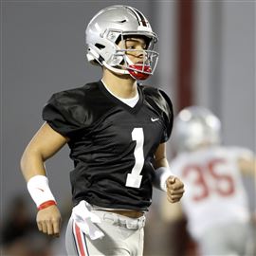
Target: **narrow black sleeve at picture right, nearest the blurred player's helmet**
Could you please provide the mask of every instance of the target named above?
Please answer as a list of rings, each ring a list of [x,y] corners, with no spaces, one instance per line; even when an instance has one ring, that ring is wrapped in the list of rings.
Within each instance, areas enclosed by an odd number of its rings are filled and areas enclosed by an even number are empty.
[[[172,134],[173,124],[174,124],[174,110],[173,110],[173,103],[167,94],[159,90],[161,95],[161,109],[162,109],[162,118],[164,120],[164,132],[161,138],[161,143],[166,142]]]

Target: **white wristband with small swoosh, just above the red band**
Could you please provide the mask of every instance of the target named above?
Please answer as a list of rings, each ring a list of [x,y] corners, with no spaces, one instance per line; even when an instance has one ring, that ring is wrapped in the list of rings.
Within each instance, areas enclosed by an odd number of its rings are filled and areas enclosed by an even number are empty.
[[[48,179],[44,175],[35,175],[27,182],[27,190],[30,193],[38,209],[46,203],[55,201],[48,185]]]

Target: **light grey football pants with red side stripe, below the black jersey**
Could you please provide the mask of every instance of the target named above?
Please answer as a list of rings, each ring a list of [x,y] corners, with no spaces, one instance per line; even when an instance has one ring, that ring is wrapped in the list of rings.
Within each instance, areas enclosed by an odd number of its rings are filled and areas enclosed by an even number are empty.
[[[129,218],[105,210],[92,212],[101,218],[101,224],[96,225],[104,236],[91,240],[71,217],[65,234],[69,256],[142,256],[145,216]]]

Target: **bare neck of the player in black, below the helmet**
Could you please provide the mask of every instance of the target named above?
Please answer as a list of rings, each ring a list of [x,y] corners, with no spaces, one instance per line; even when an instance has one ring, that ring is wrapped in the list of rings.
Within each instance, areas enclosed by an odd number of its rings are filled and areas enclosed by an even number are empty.
[[[137,82],[130,75],[116,75],[104,70],[102,82],[114,95],[119,98],[134,98],[137,95]]]

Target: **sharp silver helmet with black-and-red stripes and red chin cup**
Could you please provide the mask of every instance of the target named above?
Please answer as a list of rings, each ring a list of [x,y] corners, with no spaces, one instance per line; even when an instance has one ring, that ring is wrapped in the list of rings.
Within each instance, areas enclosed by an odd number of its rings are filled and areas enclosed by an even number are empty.
[[[130,74],[137,80],[147,79],[155,71],[158,53],[154,51],[157,36],[146,17],[128,6],[111,6],[101,9],[85,30],[87,59],[92,64],[104,65],[118,74]],[[147,49],[142,49],[143,63],[134,64],[126,55],[128,49],[118,46],[127,36],[148,39]],[[137,49],[129,49],[133,51]]]

